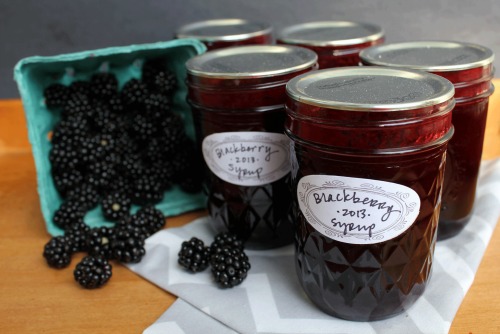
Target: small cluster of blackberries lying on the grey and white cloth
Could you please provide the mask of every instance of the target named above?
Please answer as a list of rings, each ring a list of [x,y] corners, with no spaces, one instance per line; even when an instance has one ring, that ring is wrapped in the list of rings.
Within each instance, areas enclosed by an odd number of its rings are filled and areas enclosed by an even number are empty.
[[[241,284],[250,270],[243,242],[229,232],[216,235],[210,246],[196,237],[184,241],[178,256],[178,263],[193,273],[210,266],[214,282],[223,289]]]

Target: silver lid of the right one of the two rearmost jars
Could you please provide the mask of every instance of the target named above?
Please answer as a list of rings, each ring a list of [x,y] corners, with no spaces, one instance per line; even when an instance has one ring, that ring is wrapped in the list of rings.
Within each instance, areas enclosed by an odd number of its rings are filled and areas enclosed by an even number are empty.
[[[287,27],[278,39],[287,44],[346,46],[376,41],[383,36],[382,28],[374,24],[319,21]]]

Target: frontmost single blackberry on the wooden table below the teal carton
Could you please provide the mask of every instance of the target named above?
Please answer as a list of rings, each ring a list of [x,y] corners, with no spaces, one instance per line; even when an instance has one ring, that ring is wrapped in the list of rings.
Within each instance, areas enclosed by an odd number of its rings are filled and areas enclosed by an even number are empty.
[[[85,289],[95,289],[106,284],[112,275],[111,264],[99,256],[86,256],[73,271],[75,280]]]

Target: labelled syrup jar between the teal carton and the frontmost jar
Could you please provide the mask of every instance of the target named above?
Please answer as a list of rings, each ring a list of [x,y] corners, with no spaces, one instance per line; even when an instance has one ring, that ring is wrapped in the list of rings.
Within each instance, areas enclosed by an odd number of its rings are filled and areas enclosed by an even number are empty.
[[[295,46],[238,46],[194,57],[186,67],[213,227],[236,233],[249,248],[291,243],[285,86],[316,69],[316,54]]]

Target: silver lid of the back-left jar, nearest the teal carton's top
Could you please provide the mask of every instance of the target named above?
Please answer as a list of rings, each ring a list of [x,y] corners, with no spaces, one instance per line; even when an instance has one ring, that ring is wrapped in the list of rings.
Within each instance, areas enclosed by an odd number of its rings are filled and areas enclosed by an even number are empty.
[[[207,42],[237,41],[270,34],[271,25],[242,19],[208,20],[179,28],[177,38],[196,38]]]

